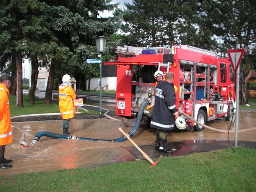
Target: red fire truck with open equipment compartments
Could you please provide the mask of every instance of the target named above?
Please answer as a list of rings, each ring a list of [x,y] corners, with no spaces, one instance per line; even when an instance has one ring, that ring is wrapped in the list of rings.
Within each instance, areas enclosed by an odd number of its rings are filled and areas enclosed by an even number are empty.
[[[235,106],[235,76],[228,58],[188,45],[167,47],[116,47],[118,61],[104,64],[117,66],[116,115],[134,117],[142,101],[150,98],[147,109],[154,106],[154,73],[160,70],[175,74],[175,105],[179,111],[202,124],[229,120]],[[143,115],[146,122],[147,115]],[[150,121],[150,118],[148,118]],[[149,122],[150,123],[150,122]],[[201,125],[189,121],[195,131]]]

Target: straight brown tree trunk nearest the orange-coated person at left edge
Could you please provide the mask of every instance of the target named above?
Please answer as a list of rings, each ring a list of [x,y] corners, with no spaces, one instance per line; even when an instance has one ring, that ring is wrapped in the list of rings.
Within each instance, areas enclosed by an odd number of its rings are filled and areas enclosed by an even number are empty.
[[[16,106],[23,107],[23,88],[22,88],[22,55],[19,51],[16,56],[17,67],[17,94],[16,94]]]

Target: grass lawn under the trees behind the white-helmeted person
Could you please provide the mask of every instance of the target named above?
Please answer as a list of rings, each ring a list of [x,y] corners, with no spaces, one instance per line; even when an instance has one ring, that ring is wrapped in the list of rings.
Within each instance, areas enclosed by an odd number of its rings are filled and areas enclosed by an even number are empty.
[[[10,115],[30,115],[30,114],[40,114],[40,113],[59,113],[59,105],[57,102],[52,102],[51,105],[44,105],[44,100],[35,98],[35,103],[31,105],[30,99],[27,96],[23,96],[23,108],[16,106],[16,96],[9,95],[10,101]],[[82,110],[80,110],[82,111]],[[88,110],[88,114],[99,114],[97,111]],[[84,112],[85,113],[85,112]]]

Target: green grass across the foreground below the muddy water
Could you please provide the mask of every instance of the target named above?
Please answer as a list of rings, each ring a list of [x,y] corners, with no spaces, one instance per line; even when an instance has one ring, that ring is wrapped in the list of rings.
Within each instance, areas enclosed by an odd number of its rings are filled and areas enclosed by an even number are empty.
[[[256,150],[237,148],[1,177],[1,192],[256,192]],[[156,160],[155,160],[156,161]]]

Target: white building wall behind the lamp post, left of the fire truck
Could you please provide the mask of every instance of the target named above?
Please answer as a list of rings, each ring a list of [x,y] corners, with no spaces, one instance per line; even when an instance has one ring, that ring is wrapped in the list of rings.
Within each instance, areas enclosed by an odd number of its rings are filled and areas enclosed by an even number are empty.
[[[99,91],[99,78],[91,79],[90,90],[91,91]],[[88,88],[88,80],[86,81]],[[102,91],[116,91],[116,77],[102,77],[101,78],[101,87]]]

